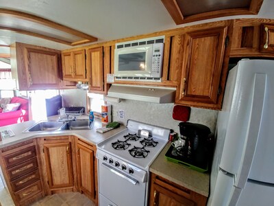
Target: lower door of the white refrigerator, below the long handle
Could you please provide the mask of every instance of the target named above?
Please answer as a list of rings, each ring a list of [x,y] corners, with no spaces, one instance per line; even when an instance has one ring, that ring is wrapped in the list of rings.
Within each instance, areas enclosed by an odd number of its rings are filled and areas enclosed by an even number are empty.
[[[274,185],[248,180],[238,206],[269,206],[274,203]]]

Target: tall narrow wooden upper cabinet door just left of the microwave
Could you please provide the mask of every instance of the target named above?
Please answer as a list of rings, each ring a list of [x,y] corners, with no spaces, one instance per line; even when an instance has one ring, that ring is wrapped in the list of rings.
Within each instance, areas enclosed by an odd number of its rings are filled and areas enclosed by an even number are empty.
[[[88,89],[103,91],[103,47],[88,49],[86,64],[90,72]]]

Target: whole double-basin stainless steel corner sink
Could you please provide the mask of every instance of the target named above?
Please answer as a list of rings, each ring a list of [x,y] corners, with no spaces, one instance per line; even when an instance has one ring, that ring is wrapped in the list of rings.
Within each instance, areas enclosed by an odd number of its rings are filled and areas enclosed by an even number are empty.
[[[23,133],[49,132],[49,131],[61,131],[61,130],[90,130],[92,126],[93,126],[92,122],[88,121],[88,119],[79,119],[71,122],[42,121],[25,129]]]

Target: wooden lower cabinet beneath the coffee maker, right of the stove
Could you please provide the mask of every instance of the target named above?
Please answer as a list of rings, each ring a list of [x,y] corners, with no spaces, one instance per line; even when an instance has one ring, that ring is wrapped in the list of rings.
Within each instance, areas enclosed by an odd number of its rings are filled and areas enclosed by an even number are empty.
[[[207,197],[151,173],[149,205],[202,206]]]

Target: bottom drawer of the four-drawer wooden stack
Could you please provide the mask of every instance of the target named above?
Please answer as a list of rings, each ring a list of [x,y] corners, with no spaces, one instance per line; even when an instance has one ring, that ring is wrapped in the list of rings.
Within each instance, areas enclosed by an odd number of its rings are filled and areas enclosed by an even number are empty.
[[[39,192],[42,192],[42,186],[40,181],[37,181],[36,183],[33,183],[32,185],[29,185],[28,187],[25,187],[23,190],[15,192],[14,194],[16,199],[21,202],[38,194]]]

